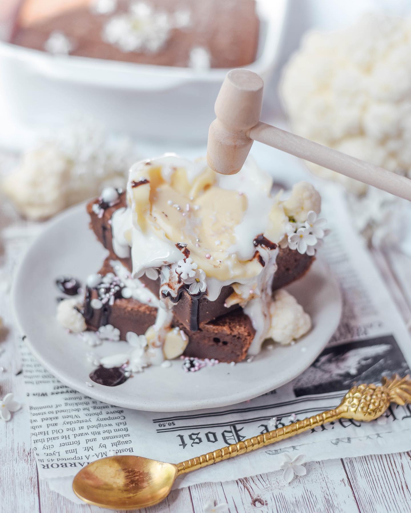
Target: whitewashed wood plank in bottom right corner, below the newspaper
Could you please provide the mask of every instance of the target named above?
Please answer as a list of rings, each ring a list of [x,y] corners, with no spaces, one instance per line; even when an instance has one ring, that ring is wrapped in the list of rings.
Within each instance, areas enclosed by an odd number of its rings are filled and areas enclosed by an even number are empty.
[[[411,453],[346,458],[344,467],[361,513],[411,510]]]

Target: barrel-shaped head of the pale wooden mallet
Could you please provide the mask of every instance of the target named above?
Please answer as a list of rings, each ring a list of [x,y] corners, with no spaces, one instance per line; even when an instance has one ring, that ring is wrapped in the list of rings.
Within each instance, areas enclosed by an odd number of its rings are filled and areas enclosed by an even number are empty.
[[[242,168],[253,140],[246,134],[260,118],[263,79],[245,69],[228,72],[215,102],[207,161],[217,173],[235,174]]]

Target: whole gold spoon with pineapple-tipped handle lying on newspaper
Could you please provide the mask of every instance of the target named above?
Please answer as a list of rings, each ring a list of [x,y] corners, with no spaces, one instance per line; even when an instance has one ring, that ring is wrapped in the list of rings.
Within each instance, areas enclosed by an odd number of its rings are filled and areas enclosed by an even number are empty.
[[[383,378],[382,385],[358,385],[350,388],[341,404],[319,415],[263,433],[242,442],[174,463],[150,460],[140,456],[110,456],[96,460],[74,477],[73,490],[88,504],[109,509],[139,509],[153,506],[170,494],[177,476],[218,463],[293,437],[316,426],[338,419],[370,421],[380,417],[391,402],[411,402],[411,378]]]

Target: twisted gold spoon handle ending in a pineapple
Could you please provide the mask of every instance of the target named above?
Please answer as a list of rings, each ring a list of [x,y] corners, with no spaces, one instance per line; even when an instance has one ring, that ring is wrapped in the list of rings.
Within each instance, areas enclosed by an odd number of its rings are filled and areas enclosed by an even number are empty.
[[[308,419],[293,422],[287,426],[273,429],[256,437],[178,463],[177,473],[178,475],[184,474],[218,463],[221,460],[233,458],[245,452],[293,437],[298,433],[327,422],[339,419],[375,420],[385,412],[391,402],[400,405],[411,403],[411,378],[409,376],[400,378],[398,374],[395,374],[391,379],[383,378],[380,386],[373,384],[353,386],[346,393],[341,404],[335,409],[324,411]]]

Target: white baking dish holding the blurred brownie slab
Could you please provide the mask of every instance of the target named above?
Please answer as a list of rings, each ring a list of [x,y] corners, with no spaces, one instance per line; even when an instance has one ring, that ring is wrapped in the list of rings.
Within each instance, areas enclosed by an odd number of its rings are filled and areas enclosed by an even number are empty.
[[[247,68],[267,79],[277,60],[288,0],[257,3],[260,41],[257,59]],[[0,30],[0,87],[8,115],[21,126],[58,126],[82,113],[113,131],[151,140],[206,140],[227,69],[52,56],[7,43],[7,23]]]

